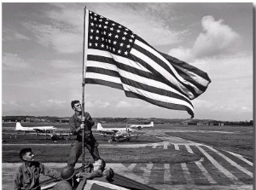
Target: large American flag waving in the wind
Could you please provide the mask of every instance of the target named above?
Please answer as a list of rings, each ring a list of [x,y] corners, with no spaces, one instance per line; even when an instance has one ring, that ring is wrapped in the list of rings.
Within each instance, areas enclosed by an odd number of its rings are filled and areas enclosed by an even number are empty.
[[[194,117],[190,100],[211,83],[206,72],[160,53],[125,26],[88,9],[84,31],[84,83],[122,89],[127,97]]]

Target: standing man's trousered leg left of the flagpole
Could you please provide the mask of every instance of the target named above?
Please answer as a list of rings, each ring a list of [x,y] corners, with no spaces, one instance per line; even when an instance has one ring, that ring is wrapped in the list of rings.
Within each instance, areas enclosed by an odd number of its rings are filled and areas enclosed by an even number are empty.
[[[82,142],[73,141],[71,144],[71,151],[67,160],[67,165],[72,167],[78,162],[80,155],[82,154]]]

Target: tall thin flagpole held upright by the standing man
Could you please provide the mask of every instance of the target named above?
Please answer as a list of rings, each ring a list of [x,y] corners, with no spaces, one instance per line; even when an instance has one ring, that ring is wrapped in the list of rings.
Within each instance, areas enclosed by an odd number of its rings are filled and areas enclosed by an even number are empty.
[[[84,40],[83,40],[83,80],[82,80],[82,118],[84,118],[84,85],[85,85],[85,14],[86,14],[86,6],[84,7]],[[85,127],[85,126],[84,126]],[[82,172],[84,172],[84,129],[82,135]]]

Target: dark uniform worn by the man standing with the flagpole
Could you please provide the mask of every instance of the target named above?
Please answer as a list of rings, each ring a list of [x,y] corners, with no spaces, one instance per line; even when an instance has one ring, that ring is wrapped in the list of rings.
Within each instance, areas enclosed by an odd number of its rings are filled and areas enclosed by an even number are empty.
[[[71,127],[71,132],[73,135],[77,135],[77,138],[71,144],[71,152],[67,161],[67,165],[72,167],[77,163],[80,155],[83,153],[82,151],[82,131],[79,133],[76,132],[76,129],[79,128],[82,121],[75,114],[69,119],[69,125]],[[98,151],[98,143],[94,136],[92,135],[91,127],[94,125],[93,119],[90,117],[90,113],[84,112],[84,147],[86,147],[92,156],[92,158],[96,161],[100,159],[99,151]]]

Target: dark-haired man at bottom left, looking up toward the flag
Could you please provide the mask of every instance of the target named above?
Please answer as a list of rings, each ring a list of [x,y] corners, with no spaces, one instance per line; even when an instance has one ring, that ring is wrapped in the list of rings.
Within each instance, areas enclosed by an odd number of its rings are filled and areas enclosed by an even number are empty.
[[[14,190],[40,190],[40,174],[61,180],[60,172],[49,169],[44,164],[34,160],[31,148],[21,149],[20,159],[24,163],[15,171]]]

